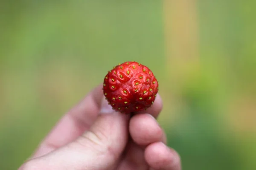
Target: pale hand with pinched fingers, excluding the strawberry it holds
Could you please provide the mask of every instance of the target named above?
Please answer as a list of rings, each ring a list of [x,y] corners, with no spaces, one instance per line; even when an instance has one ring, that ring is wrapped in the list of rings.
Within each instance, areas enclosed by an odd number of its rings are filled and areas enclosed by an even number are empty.
[[[102,85],[64,114],[19,170],[181,170],[156,118],[159,94],[143,113],[115,112]]]

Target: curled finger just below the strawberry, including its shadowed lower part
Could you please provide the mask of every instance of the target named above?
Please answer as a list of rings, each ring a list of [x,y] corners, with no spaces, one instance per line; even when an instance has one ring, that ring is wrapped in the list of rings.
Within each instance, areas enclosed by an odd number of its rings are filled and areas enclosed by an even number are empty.
[[[154,115],[158,115],[155,113]],[[166,142],[166,136],[158,125],[156,119],[150,114],[134,115],[129,122],[129,132],[132,141],[129,142],[124,160],[119,169],[125,170],[147,170],[148,164],[144,158],[144,149],[153,142]]]

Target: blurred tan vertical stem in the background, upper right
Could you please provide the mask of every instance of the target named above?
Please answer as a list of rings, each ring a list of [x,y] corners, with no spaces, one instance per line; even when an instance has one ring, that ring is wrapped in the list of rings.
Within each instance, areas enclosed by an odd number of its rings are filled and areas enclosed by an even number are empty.
[[[164,0],[166,69],[178,94],[198,74],[198,18],[196,0]],[[175,83],[172,83],[175,82]]]

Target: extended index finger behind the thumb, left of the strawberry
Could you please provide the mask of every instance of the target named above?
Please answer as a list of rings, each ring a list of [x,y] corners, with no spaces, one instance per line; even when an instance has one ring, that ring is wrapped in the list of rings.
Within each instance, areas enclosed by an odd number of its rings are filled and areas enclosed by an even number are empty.
[[[98,116],[102,97],[102,85],[99,85],[61,118],[32,158],[42,156],[64,146],[87,130]]]

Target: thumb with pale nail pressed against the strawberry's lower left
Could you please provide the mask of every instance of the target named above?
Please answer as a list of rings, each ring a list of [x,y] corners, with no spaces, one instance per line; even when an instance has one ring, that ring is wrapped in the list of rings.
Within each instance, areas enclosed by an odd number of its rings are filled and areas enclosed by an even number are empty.
[[[109,170],[117,165],[128,140],[129,115],[102,102],[102,114],[75,141],[32,159],[20,170]]]

